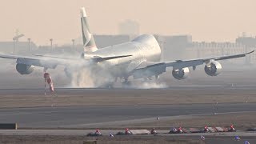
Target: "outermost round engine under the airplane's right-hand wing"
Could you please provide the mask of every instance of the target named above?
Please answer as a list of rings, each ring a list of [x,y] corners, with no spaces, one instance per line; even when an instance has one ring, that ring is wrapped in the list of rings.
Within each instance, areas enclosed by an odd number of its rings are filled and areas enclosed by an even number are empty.
[[[206,64],[205,72],[210,76],[217,76],[222,72],[222,65],[217,61],[210,62]]]

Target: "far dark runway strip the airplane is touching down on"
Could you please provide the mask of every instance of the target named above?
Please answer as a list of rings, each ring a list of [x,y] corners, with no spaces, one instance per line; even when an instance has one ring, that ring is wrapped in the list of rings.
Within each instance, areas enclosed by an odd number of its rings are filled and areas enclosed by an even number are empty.
[[[181,85],[181,86],[168,86],[165,88],[122,88],[117,87],[114,89],[108,88],[70,88],[70,87],[57,87],[54,89],[55,94],[70,94],[70,95],[81,95],[81,94],[104,94],[104,93],[111,93],[111,94],[119,94],[120,97],[122,94],[147,94],[147,93],[161,93],[161,94],[168,94],[171,90],[200,90],[200,91],[207,91],[211,90],[212,93],[214,90],[218,92],[219,90],[256,90],[256,83],[254,85],[237,85],[237,84],[225,84],[225,85]],[[48,89],[47,89],[48,91]],[[246,93],[246,91],[244,92]],[[38,95],[44,94],[43,88],[18,88],[18,89],[2,89],[0,88],[0,96],[2,95]]]

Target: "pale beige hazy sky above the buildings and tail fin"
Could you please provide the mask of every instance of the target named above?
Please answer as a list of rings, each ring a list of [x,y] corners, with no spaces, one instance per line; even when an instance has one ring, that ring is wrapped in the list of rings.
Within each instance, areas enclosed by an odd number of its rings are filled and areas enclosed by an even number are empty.
[[[255,0],[1,0],[0,41],[12,41],[18,28],[41,45],[71,42],[81,35],[82,6],[94,34],[118,34],[126,19],[137,21],[141,34],[191,34],[194,41],[256,34]]]

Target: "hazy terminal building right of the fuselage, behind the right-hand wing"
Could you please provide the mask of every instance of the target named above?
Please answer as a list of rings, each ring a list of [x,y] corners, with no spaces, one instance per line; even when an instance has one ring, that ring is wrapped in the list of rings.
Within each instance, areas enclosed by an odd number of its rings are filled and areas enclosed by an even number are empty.
[[[239,37],[235,42],[193,42],[191,35],[157,36],[162,48],[162,60],[206,58],[228,54],[242,54],[255,50],[256,38]],[[230,63],[256,63],[256,54],[226,60]]]

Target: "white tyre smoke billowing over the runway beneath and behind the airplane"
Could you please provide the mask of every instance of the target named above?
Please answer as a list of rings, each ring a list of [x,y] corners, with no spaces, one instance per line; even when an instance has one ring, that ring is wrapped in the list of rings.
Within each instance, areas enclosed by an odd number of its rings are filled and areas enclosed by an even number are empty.
[[[46,54],[47,55],[47,54]],[[49,54],[50,55],[50,54]],[[114,83],[114,76],[110,71],[111,66],[108,66],[108,62],[90,63],[83,59],[78,59],[78,55],[60,54],[57,57],[66,58],[66,63],[70,67],[66,67],[67,74],[65,72],[65,66],[58,67],[55,70],[47,70],[54,78],[54,82],[62,81],[63,77],[67,78],[68,81],[66,86],[71,88],[97,88],[106,87],[110,83]],[[47,59],[47,58],[46,58]],[[114,72],[121,73],[117,67],[114,67]],[[56,73],[56,71],[58,71]],[[40,74],[41,76],[41,74]],[[61,79],[62,78],[62,79]],[[131,89],[152,89],[152,88],[166,88],[166,83],[159,83],[155,80],[143,82],[141,79],[138,83],[134,83],[133,79],[129,79],[131,84],[129,86],[122,86],[122,88]],[[62,81],[63,82],[63,81]],[[119,83],[121,82],[118,81]],[[118,85],[118,84],[117,84]],[[120,85],[119,85],[120,86]],[[116,86],[114,86],[116,87]]]

